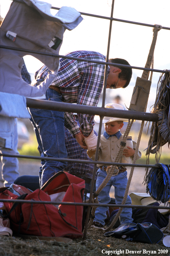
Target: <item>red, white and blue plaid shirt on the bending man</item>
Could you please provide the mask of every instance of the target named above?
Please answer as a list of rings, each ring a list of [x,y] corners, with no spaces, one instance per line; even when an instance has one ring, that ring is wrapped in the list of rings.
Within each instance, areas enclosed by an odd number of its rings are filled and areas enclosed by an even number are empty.
[[[67,55],[76,58],[91,59],[91,61],[106,61],[105,56],[91,51],[76,51]],[[60,69],[51,85],[60,88],[64,102],[97,106],[103,87],[104,69],[104,64],[61,58]],[[110,68],[108,66],[107,75],[109,75],[109,71]],[[49,69],[43,66],[35,73],[35,79],[46,79],[48,72]],[[73,136],[80,133],[79,129],[85,137],[90,135],[94,126],[94,116],[79,114],[80,128],[77,125],[73,113],[65,112],[64,118],[65,127],[70,130]]]

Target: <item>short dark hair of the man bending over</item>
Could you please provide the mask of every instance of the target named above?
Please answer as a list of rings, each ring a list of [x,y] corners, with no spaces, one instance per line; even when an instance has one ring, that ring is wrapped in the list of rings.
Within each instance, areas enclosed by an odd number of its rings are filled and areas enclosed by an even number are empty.
[[[112,63],[117,63],[117,64],[123,64],[123,65],[129,65],[129,62],[127,62],[127,60],[125,59],[119,59],[119,58],[115,58],[115,59],[110,59]],[[121,66],[116,66],[114,65],[114,67],[117,67],[119,69],[121,69],[121,73],[119,73],[119,78],[121,80],[126,80],[126,84],[124,85],[123,88],[126,88],[127,85],[130,83],[131,81],[131,77],[132,77],[132,69],[131,68],[125,68],[125,67],[121,67]]]

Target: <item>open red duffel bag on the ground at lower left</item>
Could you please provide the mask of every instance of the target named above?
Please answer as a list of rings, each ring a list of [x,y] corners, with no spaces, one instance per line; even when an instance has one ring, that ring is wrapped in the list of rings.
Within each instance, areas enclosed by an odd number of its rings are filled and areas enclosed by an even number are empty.
[[[13,184],[0,189],[13,233],[42,237],[82,237],[83,206],[38,203],[11,203],[9,199],[82,203],[85,181],[74,175],[58,172],[41,189]],[[58,197],[59,196],[59,197]],[[62,199],[62,200],[58,200]],[[2,213],[1,213],[2,215]]]

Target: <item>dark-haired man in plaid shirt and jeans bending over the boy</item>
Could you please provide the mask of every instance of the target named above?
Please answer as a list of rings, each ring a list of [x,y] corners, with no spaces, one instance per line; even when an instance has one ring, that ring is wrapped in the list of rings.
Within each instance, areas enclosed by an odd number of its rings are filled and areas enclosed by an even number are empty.
[[[66,56],[88,59],[91,62],[61,58],[60,69],[46,92],[45,100],[97,106],[103,87],[105,64],[97,64],[93,61],[105,62],[106,57],[92,51],[75,51]],[[110,59],[109,62],[129,65],[126,60],[118,58]],[[46,66],[39,69],[32,85],[37,86],[44,81],[48,72],[49,69]],[[125,88],[131,76],[131,69],[108,66],[106,88]],[[30,108],[30,114],[36,138],[44,156],[67,158],[64,125],[82,148],[93,150],[96,147],[97,136],[93,130],[94,116],[79,114],[79,127],[71,112]],[[67,162],[47,160],[42,166],[41,186],[56,172],[63,171],[66,166]]]

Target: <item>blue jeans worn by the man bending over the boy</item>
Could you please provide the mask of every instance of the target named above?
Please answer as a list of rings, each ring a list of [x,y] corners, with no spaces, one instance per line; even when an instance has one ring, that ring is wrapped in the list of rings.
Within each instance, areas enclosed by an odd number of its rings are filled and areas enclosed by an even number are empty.
[[[62,95],[57,91],[48,89],[45,100],[62,102]],[[43,156],[67,158],[64,141],[64,112],[30,108],[30,114],[32,117],[30,121],[33,124],[36,139]],[[54,160],[42,161],[40,187],[55,175],[55,173],[63,171],[66,166],[67,162]]]

